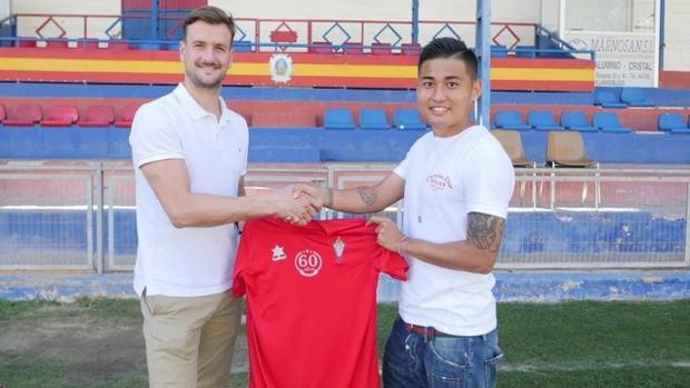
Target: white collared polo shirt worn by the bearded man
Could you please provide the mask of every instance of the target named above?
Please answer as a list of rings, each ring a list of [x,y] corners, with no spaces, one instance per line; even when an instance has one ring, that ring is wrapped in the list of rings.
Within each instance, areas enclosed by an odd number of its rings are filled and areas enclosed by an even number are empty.
[[[220,120],[180,83],[135,116],[129,143],[137,186],[138,295],[146,288],[147,295],[195,297],[231,287],[236,227],[176,228],[140,170],[152,161],[183,159],[193,193],[236,197],[247,169],[249,131],[239,115],[218,101]]]

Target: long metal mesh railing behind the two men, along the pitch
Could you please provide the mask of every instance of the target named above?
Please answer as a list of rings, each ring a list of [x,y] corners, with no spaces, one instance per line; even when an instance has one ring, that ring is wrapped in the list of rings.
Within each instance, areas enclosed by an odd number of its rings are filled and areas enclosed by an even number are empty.
[[[393,167],[252,165],[246,186],[249,195],[298,181],[349,188]],[[690,267],[687,167],[528,168],[515,178],[497,268]],[[129,162],[0,163],[0,270],[131,270],[135,209]],[[383,213],[402,223],[403,202]],[[341,217],[354,216],[321,215]]]

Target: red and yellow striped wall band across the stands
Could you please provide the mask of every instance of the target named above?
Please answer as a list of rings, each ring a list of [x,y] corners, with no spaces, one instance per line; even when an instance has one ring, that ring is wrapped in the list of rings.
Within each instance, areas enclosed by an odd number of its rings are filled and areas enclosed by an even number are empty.
[[[273,53],[237,52],[225,80],[238,86],[412,89],[416,57],[290,53],[287,82],[272,79]],[[177,51],[0,48],[0,80],[31,82],[177,83]],[[494,58],[493,90],[592,91],[594,62],[579,59]]]

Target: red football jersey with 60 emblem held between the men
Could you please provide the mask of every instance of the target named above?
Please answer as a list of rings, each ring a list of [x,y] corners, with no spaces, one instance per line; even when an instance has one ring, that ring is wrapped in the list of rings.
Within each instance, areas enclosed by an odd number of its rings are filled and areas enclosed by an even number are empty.
[[[382,271],[406,280],[407,262],[362,219],[247,221],[233,294],[247,295],[249,387],[378,387]]]

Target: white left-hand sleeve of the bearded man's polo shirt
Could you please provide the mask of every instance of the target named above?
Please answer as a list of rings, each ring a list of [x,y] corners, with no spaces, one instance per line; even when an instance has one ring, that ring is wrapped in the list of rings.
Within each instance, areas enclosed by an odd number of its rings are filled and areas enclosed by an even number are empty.
[[[135,115],[129,145],[137,168],[158,160],[185,158],[175,122],[156,103],[141,106]]]

